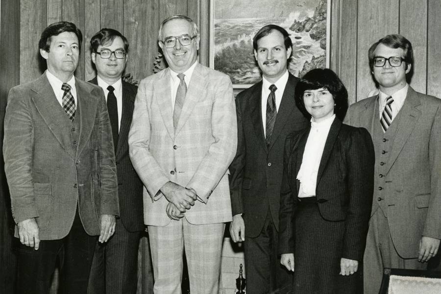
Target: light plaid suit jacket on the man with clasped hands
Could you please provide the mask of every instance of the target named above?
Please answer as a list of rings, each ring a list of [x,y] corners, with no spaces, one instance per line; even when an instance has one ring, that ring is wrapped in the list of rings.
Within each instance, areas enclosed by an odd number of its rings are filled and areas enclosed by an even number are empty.
[[[190,223],[231,221],[227,174],[237,145],[231,81],[196,64],[175,131],[170,78],[167,68],[141,81],[129,132],[130,158],[146,187],[144,221],[170,222],[160,192],[168,181],[196,191],[199,201],[185,213]]]

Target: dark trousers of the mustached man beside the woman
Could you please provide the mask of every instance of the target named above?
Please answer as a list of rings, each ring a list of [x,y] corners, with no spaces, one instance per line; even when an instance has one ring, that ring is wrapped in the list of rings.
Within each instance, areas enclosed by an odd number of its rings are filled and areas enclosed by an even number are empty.
[[[268,210],[261,233],[255,238],[245,236],[246,292],[268,294],[276,289],[291,289],[293,274],[280,264],[278,233]]]

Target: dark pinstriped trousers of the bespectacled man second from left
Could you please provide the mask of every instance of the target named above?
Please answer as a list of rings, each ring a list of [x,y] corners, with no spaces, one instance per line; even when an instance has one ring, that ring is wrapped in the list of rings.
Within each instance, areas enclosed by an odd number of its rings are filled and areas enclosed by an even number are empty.
[[[129,232],[116,221],[115,234],[107,243],[97,242],[88,294],[135,294],[138,280],[138,248],[141,232]]]

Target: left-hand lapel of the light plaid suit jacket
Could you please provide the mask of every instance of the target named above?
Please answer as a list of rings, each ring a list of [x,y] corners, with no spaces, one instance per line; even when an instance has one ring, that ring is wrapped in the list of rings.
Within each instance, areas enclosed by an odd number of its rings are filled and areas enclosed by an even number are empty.
[[[159,111],[161,112],[162,120],[169,132],[171,138],[174,138],[173,127],[173,114],[172,114],[172,101],[171,97],[171,85],[170,85],[170,69],[167,68],[161,72],[162,76],[158,79],[155,85],[153,85],[153,95],[158,102]],[[161,74],[158,73],[158,74]]]

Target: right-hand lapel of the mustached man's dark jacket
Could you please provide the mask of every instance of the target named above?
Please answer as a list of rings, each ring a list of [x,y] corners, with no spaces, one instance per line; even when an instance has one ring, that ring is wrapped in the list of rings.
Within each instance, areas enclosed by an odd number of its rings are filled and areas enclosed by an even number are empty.
[[[272,131],[270,140],[270,149],[277,137],[280,135],[286,121],[290,118],[290,114],[293,113],[293,108],[295,107],[294,101],[294,77],[291,74],[288,76],[288,81],[285,86],[285,91],[283,92],[282,100],[280,102],[279,111],[277,112],[276,121],[274,123],[274,129]]]

